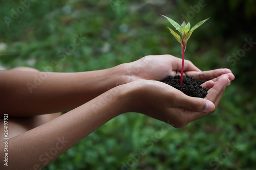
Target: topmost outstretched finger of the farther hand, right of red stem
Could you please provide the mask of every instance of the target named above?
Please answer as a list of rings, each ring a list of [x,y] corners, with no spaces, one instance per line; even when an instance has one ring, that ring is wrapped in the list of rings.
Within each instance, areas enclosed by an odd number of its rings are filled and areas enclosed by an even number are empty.
[[[186,72],[187,76],[193,76],[196,80],[212,80],[225,74],[232,74],[232,72],[230,69],[227,69],[227,68],[220,68],[220,69],[202,71],[202,72],[198,72],[198,71]]]

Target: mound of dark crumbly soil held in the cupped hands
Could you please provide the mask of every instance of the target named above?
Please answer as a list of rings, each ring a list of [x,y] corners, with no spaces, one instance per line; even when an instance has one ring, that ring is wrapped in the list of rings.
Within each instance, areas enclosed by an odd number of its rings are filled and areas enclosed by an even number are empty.
[[[173,86],[174,88],[182,91],[186,95],[196,98],[205,98],[209,89],[202,88],[204,80],[195,80],[193,76],[183,76],[183,83],[180,85],[180,76],[168,76],[163,83]]]

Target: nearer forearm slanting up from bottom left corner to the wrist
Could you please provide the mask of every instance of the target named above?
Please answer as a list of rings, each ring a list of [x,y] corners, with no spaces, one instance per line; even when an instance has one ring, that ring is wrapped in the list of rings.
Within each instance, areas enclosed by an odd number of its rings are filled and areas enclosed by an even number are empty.
[[[39,169],[113,117],[126,111],[125,89],[111,89],[82,106],[22,135],[9,139],[8,167]],[[4,143],[0,143],[4,151]],[[3,155],[3,154],[1,154]]]

